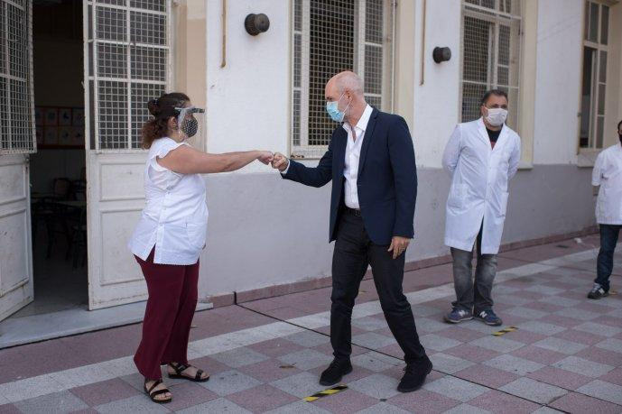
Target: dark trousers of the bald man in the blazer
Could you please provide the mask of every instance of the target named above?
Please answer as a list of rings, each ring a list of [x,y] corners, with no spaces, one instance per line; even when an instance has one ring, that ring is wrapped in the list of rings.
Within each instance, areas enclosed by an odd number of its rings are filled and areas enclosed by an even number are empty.
[[[346,361],[352,353],[352,308],[368,264],[371,264],[386,322],[404,351],[406,363],[425,356],[414,326],[413,310],[402,291],[404,253],[394,260],[393,253],[387,252],[388,247],[369,240],[360,216],[348,212],[340,214],[332,256],[330,296],[330,344],[337,360]]]

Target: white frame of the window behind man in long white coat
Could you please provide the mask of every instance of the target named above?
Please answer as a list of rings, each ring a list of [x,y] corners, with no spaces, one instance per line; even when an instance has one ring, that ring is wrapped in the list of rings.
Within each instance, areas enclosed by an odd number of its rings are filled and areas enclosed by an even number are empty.
[[[464,32],[465,32],[464,18],[471,17],[474,19],[487,21],[489,23],[494,24],[490,27],[490,30],[494,32],[492,32],[489,37],[488,51],[487,51],[489,60],[490,60],[490,56],[492,56],[492,62],[488,65],[488,68],[487,68],[487,82],[486,83],[476,82],[473,80],[466,80],[466,82],[469,84],[478,84],[481,86],[485,86],[486,89],[493,89],[497,87],[507,88],[508,95],[509,95],[509,90],[514,89],[517,94],[516,102],[515,103],[509,102],[509,104],[512,106],[515,106],[515,117],[514,119],[512,119],[513,125],[510,125],[510,126],[514,128],[516,132],[520,132],[519,131],[520,130],[520,119],[521,119],[520,108],[521,108],[521,101],[522,101],[521,79],[523,78],[522,75],[523,75],[523,65],[524,65],[524,59],[523,59],[524,33],[523,33],[523,30],[524,30],[525,2],[523,0],[513,0],[514,2],[519,3],[518,7],[519,7],[520,12],[519,14],[510,14],[510,13],[500,11],[501,1],[502,0],[494,0],[495,8],[492,9],[490,7],[486,7],[483,5],[475,5],[475,4],[469,3],[466,0],[461,0],[462,15],[460,17],[460,23],[461,23],[461,27],[460,27],[460,98],[459,98],[459,112],[458,113],[460,116],[460,122],[472,121],[472,119],[462,119],[463,92],[464,92],[464,83],[465,83],[464,53],[463,53]],[[516,39],[514,45],[510,43],[510,49],[512,49],[513,47],[516,47],[518,49],[517,51],[518,61],[514,65],[515,71],[516,71],[514,75],[512,74],[512,71],[511,71],[512,70],[511,65],[501,65],[498,62],[499,24],[507,23],[506,20],[502,20],[501,17],[506,17],[506,18],[515,20],[520,25],[519,38]],[[510,59],[511,59],[511,56],[510,56]],[[508,70],[508,74],[507,74],[508,83],[510,82],[510,79],[512,78],[516,79],[515,87],[510,87],[509,85],[506,86],[506,85],[498,84],[498,69],[501,67],[505,67]]]

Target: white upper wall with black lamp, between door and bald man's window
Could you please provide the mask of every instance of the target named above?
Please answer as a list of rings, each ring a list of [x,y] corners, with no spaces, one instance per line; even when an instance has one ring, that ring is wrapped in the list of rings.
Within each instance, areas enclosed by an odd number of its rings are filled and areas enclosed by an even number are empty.
[[[290,117],[290,2],[227,2],[227,65],[222,59],[221,2],[207,2],[209,152],[287,152]],[[249,13],[265,13],[270,29],[246,33]],[[265,171],[258,162],[244,171]]]

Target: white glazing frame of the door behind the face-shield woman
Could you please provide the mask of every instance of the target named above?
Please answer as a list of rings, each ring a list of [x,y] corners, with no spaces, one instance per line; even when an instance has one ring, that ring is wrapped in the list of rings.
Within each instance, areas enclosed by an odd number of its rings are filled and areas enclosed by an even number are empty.
[[[109,2],[109,0],[108,0]],[[97,39],[97,14],[91,12],[90,15],[90,28],[85,27],[85,78],[88,79],[88,82],[85,82],[85,107],[88,108],[85,111],[85,140],[86,140],[86,149],[95,150],[96,152],[137,152],[144,151],[142,148],[133,147],[133,115],[132,111],[135,109],[135,106],[132,105],[132,84],[148,84],[148,85],[160,85],[163,87],[163,91],[167,91],[172,85],[172,76],[173,76],[173,57],[172,57],[172,29],[173,29],[173,18],[172,18],[172,0],[165,0],[165,11],[155,11],[149,10],[139,7],[132,7],[130,0],[126,0],[125,5],[114,5],[112,2],[104,2],[101,0],[84,0],[84,12],[89,13],[90,11],[97,10],[96,7],[107,7],[110,9],[121,9],[125,10],[125,30],[126,30],[126,39],[127,41],[110,41],[110,40],[99,40]],[[154,45],[151,43],[136,43],[131,41],[131,15],[130,12],[138,12],[145,14],[156,14],[162,15],[166,17],[166,41],[165,45]],[[85,19],[85,24],[86,24]],[[89,38],[88,34],[92,32],[92,39]],[[132,78],[132,54],[131,48],[127,47],[126,51],[126,77],[125,78],[106,78],[99,76],[97,71],[97,45],[98,44],[118,44],[118,45],[127,45],[127,46],[146,46],[154,49],[161,49],[167,52],[167,61],[165,64],[166,75],[165,80],[144,80],[140,78]],[[91,48],[89,49],[89,46]],[[89,68],[89,60],[92,61],[93,67]],[[125,148],[102,148],[101,139],[99,136],[100,128],[99,128],[99,111],[100,111],[100,99],[99,99],[99,81],[113,81],[113,82],[126,82],[127,87],[127,118],[126,118],[126,128],[127,128],[127,137]],[[93,97],[91,97],[90,93],[93,92]],[[92,108],[90,107],[92,105]],[[146,102],[143,104],[146,107]],[[91,117],[93,119],[91,119]]]

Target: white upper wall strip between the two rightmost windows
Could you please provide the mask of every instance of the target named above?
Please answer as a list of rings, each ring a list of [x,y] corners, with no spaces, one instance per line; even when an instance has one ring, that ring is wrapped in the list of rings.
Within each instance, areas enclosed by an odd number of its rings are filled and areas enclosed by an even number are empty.
[[[576,163],[584,2],[538,5],[534,164]]]

